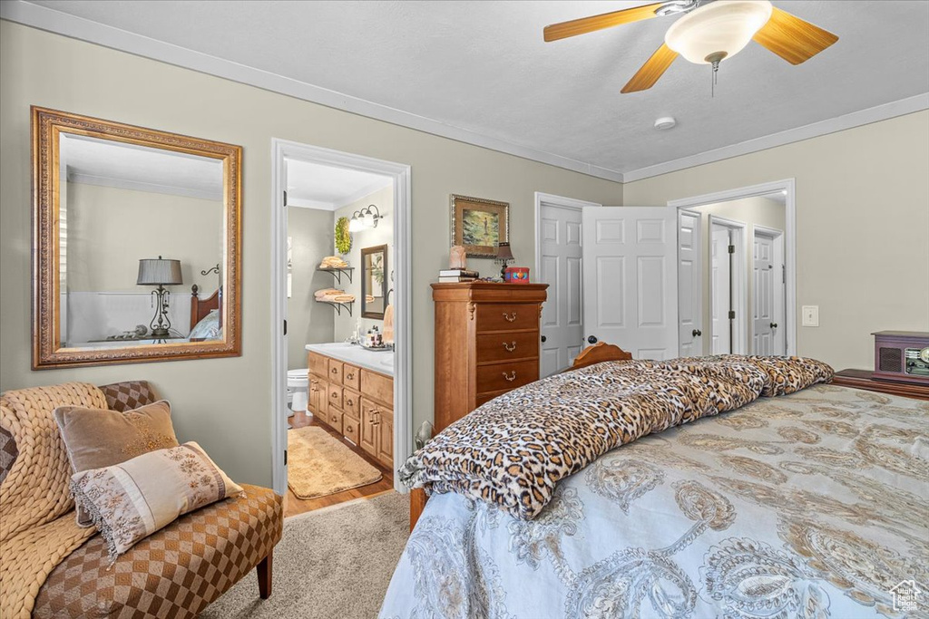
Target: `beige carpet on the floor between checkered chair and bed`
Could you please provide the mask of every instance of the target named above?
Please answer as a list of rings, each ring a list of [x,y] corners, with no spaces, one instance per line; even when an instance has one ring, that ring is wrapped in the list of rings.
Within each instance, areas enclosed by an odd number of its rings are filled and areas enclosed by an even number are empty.
[[[271,597],[253,570],[211,604],[204,619],[373,619],[410,532],[410,499],[391,492],[284,521],[274,548]]]

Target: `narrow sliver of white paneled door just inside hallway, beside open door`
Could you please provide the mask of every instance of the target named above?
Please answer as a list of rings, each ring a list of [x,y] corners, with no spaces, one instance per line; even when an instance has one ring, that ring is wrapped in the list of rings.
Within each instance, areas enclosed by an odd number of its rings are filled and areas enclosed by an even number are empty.
[[[703,355],[700,213],[677,213],[677,342],[680,356]]]

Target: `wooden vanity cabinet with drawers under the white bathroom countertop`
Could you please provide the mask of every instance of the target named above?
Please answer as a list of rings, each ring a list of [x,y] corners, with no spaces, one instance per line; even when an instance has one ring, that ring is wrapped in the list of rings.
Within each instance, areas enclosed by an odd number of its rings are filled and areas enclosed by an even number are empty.
[[[393,378],[319,353],[307,362],[309,412],[392,470]]]

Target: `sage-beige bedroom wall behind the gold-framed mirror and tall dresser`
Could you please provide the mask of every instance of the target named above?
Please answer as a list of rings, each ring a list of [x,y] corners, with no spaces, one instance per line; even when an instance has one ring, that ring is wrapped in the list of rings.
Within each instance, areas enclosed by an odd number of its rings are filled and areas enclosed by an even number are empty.
[[[429,282],[448,264],[449,194],[511,205],[517,261],[534,254],[533,192],[622,203],[622,186],[293,97],[0,23],[0,389],[147,378],[177,432],[238,481],[271,481],[271,137],[412,166],[413,428],[432,419]],[[242,145],[242,356],[33,372],[30,368],[30,104]],[[486,261],[480,261],[486,262]],[[480,270],[490,272],[492,264]],[[924,305],[924,303],[923,303]]]

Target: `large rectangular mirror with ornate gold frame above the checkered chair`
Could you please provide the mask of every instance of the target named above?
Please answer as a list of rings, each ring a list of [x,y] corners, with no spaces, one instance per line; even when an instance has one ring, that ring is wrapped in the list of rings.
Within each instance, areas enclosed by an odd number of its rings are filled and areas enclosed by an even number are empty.
[[[33,106],[33,369],[242,354],[242,147]]]

